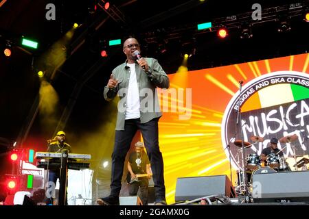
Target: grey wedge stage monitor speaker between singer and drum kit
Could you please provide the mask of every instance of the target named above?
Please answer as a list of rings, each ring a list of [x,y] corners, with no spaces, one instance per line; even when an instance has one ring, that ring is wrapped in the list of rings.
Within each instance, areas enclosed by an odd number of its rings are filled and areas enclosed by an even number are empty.
[[[175,201],[190,201],[204,196],[236,197],[227,175],[177,178]]]

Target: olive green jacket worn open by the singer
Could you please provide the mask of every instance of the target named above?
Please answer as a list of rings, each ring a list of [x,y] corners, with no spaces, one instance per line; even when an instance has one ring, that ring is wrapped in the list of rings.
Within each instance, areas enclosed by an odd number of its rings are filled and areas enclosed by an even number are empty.
[[[170,80],[164,72],[159,62],[153,58],[145,57],[148,63],[148,72],[146,73],[137,63],[135,63],[136,79],[139,87],[139,103],[141,113],[141,123],[147,123],[153,118],[162,116],[157,87],[169,88]],[[126,62],[117,66],[112,72],[113,78],[118,80],[117,87],[109,89],[104,88],[104,99],[111,101],[118,94],[118,113],[116,130],[124,130],[124,120],[126,118],[126,94],[130,80],[130,67]]]

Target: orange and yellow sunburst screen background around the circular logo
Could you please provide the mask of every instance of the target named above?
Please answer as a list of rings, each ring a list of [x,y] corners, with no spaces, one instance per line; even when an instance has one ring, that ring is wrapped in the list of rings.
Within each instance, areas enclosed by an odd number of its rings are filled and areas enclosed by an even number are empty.
[[[279,70],[308,73],[308,63],[309,54],[306,53],[189,72],[181,70],[168,75],[170,90],[184,89],[184,98],[176,94],[165,99],[159,92],[161,107],[170,104],[169,111],[163,112],[159,120],[168,203],[174,203],[178,177],[227,175],[230,178],[229,159],[221,143],[221,123],[225,108],[238,91],[238,81],[244,81],[245,85],[260,75]],[[192,89],[192,109],[186,108],[186,88]],[[173,101],[183,107],[174,104],[171,107]],[[181,111],[185,110],[191,110],[191,118],[179,119],[184,115]],[[236,180],[236,170],[233,170],[234,185]]]

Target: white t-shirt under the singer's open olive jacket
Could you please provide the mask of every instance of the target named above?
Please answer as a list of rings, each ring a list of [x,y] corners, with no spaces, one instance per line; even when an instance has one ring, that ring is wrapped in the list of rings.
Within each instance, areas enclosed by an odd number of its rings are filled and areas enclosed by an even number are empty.
[[[128,84],[128,96],[126,98],[126,119],[139,118],[139,86],[137,84],[135,63],[127,64],[130,67],[130,80]]]

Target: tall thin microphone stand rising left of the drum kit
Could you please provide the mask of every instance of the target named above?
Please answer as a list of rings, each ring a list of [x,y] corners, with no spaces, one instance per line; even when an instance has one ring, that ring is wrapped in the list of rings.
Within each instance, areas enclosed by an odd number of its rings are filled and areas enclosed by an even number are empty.
[[[242,132],[242,114],[241,114],[241,110],[240,110],[240,96],[242,94],[242,83],[243,81],[239,81],[239,96],[238,96],[238,110],[237,110],[237,121],[236,121],[236,125],[239,124],[239,120],[240,120],[240,137],[242,140],[242,171],[243,171],[243,182],[244,182],[244,201],[246,203],[249,203],[249,196],[248,196],[248,187],[247,187],[247,173],[244,167],[244,133]]]

